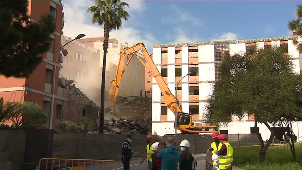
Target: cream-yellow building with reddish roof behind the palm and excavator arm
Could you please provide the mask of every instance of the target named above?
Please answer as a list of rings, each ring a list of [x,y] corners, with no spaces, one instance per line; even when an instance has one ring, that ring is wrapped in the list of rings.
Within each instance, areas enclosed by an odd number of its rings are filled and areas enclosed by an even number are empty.
[[[98,49],[101,51],[101,57],[103,58],[103,42],[104,38],[83,38],[80,39],[79,42],[86,44],[90,47]],[[106,96],[105,100],[107,100],[107,94],[111,87],[111,81],[115,79],[117,65],[120,59],[120,52],[125,48],[128,47],[128,44],[119,43],[117,39],[112,38],[109,39],[109,47],[108,53],[106,58],[106,77],[108,76],[109,81],[105,82],[105,91]],[[143,64],[137,59],[137,55],[143,57],[143,54],[137,53],[133,56],[132,60],[130,61],[129,65],[124,68],[125,72],[123,74],[120,88],[118,91],[118,96],[139,96],[140,90],[145,91],[145,67]],[[130,56],[128,56],[130,57]],[[100,67],[102,67],[102,61],[100,61]],[[127,59],[125,60],[125,65],[127,63]],[[144,95],[144,94],[143,94]],[[118,99],[117,99],[118,100]]]

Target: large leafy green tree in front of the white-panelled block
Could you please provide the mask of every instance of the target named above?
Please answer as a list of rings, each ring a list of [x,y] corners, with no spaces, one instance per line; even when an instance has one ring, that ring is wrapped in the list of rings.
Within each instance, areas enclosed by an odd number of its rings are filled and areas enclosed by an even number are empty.
[[[246,114],[255,116],[271,135],[266,144],[256,132],[261,149],[259,163],[265,163],[265,153],[275,134],[271,125],[281,118],[302,119],[300,75],[284,48],[263,49],[256,53],[236,54],[224,58],[221,79],[214,85],[207,101],[205,119],[208,123],[227,124],[232,116],[242,119]]]

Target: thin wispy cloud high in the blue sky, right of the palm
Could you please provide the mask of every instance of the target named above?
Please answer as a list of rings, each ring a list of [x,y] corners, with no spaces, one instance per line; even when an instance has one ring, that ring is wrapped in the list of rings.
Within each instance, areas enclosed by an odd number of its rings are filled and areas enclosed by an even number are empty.
[[[187,21],[194,26],[204,26],[204,21],[192,15],[189,11],[181,10],[176,5],[171,5],[170,8],[175,11],[175,14],[162,18],[163,23],[169,22],[178,24],[179,21]]]

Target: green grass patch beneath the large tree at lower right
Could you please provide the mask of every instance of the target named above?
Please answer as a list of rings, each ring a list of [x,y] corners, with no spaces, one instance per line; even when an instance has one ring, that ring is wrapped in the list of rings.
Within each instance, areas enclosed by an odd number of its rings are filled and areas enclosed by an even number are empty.
[[[260,146],[236,147],[233,165],[246,170],[302,170],[302,144],[295,143],[297,163],[293,162],[289,145],[271,145],[266,151],[265,166],[258,164]]]

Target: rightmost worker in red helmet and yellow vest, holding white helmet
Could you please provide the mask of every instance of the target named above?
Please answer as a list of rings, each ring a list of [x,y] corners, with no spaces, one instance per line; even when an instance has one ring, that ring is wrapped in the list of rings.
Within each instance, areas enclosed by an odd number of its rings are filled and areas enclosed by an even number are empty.
[[[225,134],[220,134],[219,140],[222,142],[222,146],[219,151],[215,151],[215,153],[220,156],[219,170],[232,170],[233,147],[227,141]]]

